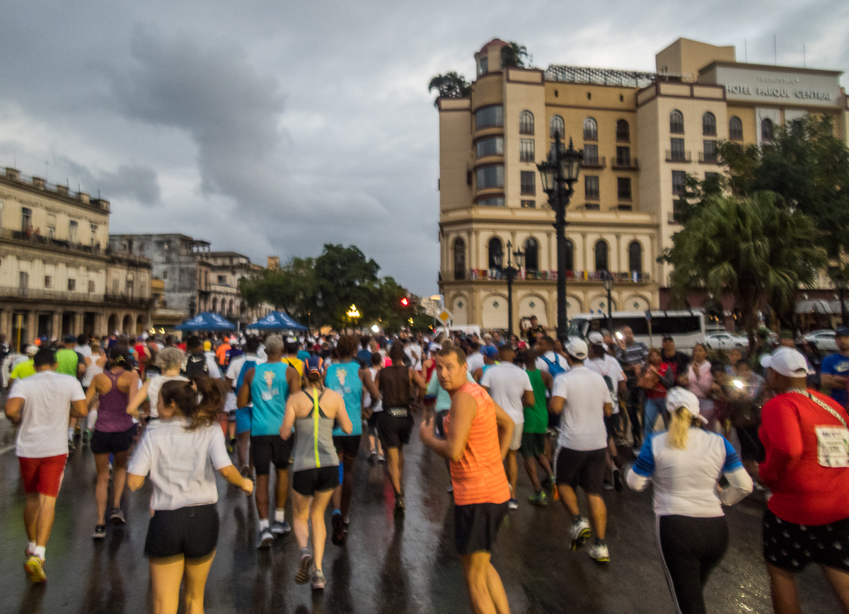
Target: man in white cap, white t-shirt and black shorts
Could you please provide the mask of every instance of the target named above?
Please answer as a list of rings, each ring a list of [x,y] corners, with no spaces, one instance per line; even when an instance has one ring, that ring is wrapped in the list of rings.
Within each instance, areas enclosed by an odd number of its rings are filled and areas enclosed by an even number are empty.
[[[588,356],[586,341],[570,339],[565,350],[570,370],[554,378],[549,407],[561,416],[557,453],[554,454],[557,492],[563,507],[572,515],[572,549],[576,550],[590,535],[590,524],[578,507],[576,487],[582,487],[587,494],[596,536],[588,554],[599,562],[607,562],[610,560],[607,544],[604,544],[607,509],[601,493],[607,458],[604,417],[613,411],[613,401],[604,378],[584,366]]]

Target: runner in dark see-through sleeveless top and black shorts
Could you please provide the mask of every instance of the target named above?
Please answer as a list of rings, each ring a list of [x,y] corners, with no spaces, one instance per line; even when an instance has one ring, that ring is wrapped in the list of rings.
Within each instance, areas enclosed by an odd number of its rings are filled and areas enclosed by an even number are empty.
[[[380,398],[383,399],[383,411],[378,417],[377,430],[380,444],[386,453],[386,470],[392,488],[395,490],[395,513],[404,513],[404,495],[401,487],[404,473],[405,444],[410,442],[413,431],[413,416],[410,414],[410,394],[413,383],[419,387],[419,402],[424,401],[424,390],[427,384],[414,371],[404,366],[407,352],[400,341],[392,344],[389,350],[392,359],[391,367],[384,367],[377,372],[376,381]]]

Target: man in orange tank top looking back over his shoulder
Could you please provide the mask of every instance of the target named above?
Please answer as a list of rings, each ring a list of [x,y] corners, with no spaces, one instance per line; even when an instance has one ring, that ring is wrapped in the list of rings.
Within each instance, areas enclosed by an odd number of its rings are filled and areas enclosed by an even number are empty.
[[[466,379],[466,371],[460,348],[447,347],[436,355],[436,377],[451,395],[446,439],[434,437],[433,415],[420,425],[419,437],[451,461],[454,536],[472,611],[509,614],[507,593],[490,555],[510,499],[503,459],[514,424],[481,386]]]

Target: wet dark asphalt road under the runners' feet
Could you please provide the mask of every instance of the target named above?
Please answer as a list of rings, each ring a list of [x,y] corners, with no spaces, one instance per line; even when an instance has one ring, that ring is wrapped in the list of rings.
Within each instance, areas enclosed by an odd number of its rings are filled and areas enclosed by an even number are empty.
[[[11,433],[0,418],[0,449]],[[559,503],[527,503],[530,484],[520,467],[520,508],[498,535],[493,564],[513,612],[609,612],[672,614],[673,606],[655,546],[651,494],[605,493],[611,562],[599,566],[584,551],[571,552],[567,516]],[[453,509],[445,465],[418,441],[407,455],[407,515],[392,515],[392,489],[382,465],[361,451],[346,547],[330,544],[324,555],[327,589],[312,593],[294,582],[293,534],[257,551],[256,512],[220,478],[221,536],[206,586],[206,611],[215,612],[453,612],[469,611],[453,546]],[[94,461],[88,450],[71,454],[59,494],[56,524],[47,550],[46,586],[31,587],[22,569],[26,545],[23,493],[14,450],[0,454],[0,612],[131,614],[152,611],[147,560],[150,486],[124,499],[127,526],[110,527],[93,543]],[[287,518],[290,518],[287,505]],[[759,495],[727,511],[731,544],[706,588],[708,611],[771,612],[763,569]],[[822,573],[799,575],[803,611],[839,608]],[[182,611],[182,607],[181,607]]]

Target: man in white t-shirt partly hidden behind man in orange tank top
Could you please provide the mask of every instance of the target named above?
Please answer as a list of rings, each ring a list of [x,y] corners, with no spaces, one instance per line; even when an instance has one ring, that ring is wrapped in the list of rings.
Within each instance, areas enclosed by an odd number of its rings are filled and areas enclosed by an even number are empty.
[[[511,346],[501,346],[498,350],[500,362],[486,369],[481,377],[481,386],[489,392],[489,396],[513,420],[513,439],[504,462],[507,464],[507,482],[510,485],[510,500],[508,507],[515,510],[519,507],[516,500],[516,481],[519,478],[519,467],[516,465],[516,451],[522,445],[522,425],[525,424],[523,403],[533,407],[535,400],[531,378],[527,371],[513,363],[515,352]]]

